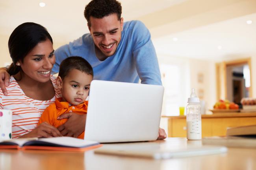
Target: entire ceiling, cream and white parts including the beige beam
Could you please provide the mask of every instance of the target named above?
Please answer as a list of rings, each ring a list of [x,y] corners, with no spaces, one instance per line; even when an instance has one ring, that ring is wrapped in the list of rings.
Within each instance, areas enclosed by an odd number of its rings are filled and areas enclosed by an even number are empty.
[[[39,2],[46,6],[39,7]],[[141,20],[150,29],[158,56],[207,60],[256,56],[256,0],[120,2],[125,21]],[[0,0],[0,36],[9,37],[23,22],[37,22],[48,29],[56,46],[66,44],[89,32],[83,16],[88,3],[89,0]],[[247,20],[252,24],[246,24]]]

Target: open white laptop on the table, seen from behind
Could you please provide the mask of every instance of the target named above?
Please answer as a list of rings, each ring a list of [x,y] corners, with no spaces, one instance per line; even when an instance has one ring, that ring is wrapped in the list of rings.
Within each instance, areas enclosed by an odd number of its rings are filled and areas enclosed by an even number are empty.
[[[163,86],[93,80],[85,140],[151,141],[158,137]]]

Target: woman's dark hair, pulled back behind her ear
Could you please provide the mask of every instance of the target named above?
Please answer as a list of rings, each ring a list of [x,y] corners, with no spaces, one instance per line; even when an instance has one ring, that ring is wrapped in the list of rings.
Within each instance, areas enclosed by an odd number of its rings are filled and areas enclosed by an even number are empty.
[[[21,60],[39,43],[49,39],[52,42],[52,37],[47,29],[33,22],[25,22],[20,24],[11,33],[8,41],[8,48],[13,62],[7,69],[10,75],[17,74],[21,68],[16,63]]]

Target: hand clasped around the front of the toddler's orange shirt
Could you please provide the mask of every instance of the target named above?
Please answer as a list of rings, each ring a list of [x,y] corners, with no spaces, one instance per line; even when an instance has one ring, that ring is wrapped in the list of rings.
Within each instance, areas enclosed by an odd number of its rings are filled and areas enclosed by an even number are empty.
[[[85,129],[86,114],[80,115],[73,112],[64,113],[57,119],[65,119],[68,121],[58,127],[59,132],[63,136],[78,137]]]

